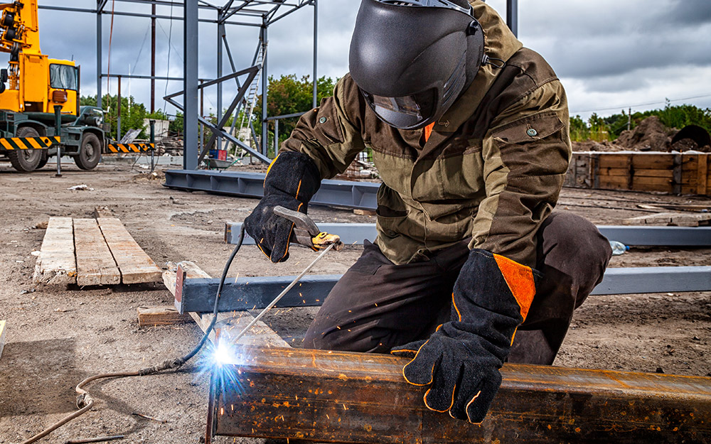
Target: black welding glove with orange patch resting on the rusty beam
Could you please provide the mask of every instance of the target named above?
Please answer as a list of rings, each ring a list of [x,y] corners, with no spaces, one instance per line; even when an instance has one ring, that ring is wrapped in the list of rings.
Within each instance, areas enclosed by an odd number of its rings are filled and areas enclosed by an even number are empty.
[[[501,385],[499,369],[535,296],[540,274],[489,251],[473,249],[454,283],[451,320],[427,341],[392,349],[412,357],[402,374],[429,385],[424,404],[481,423]]]

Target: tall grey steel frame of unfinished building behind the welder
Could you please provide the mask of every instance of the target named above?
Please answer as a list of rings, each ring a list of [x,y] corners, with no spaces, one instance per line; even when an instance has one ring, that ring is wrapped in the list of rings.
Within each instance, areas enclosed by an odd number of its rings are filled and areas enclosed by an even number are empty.
[[[150,5],[150,13],[139,13],[136,11],[126,11],[124,9],[112,8],[111,11],[108,10],[107,5],[109,1],[112,2],[112,6],[115,4],[141,4]],[[218,2],[226,1],[225,4],[218,4]],[[282,18],[289,16],[290,14],[303,9],[306,6],[314,7],[314,65],[313,65],[313,77],[314,77],[314,87],[313,87],[313,106],[316,107],[316,86],[318,82],[318,36],[319,36],[319,0],[183,0],[183,1],[173,1],[173,0],[96,0],[95,8],[85,8],[76,6],[55,6],[55,5],[40,5],[40,9],[48,9],[52,11],[68,11],[68,12],[82,12],[82,13],[93,13],[96,15],[96,35],[97,35],[97,45],[96,45],[96,58],[97,58],[97,105],[101,107],[102,101],[102,80],[104,77],[118,77],[119,85],[122,78],[134,78],[134,79],[144,79],[151,80],[151,111],[154,110],[155,102],[155,81],[156,80],[183,80],[183,122],[184,122],[184,143],[183,143],[183,168],[186,170],[197,170],[199,166],[198,162],[198,134],[199,125],[198,122],[198,23],[214,23],[217,25],[217,46],[216,52],[218,55],[216,75],[215,78],[221,78],[225,74],[223,72],[223,62],[224,54],[228,55],[230,65],[232,67],[232,72],[237,72],[237,67],[235,67],[234,60],[232,58],[232,53],[230,51],[230,46],[228,45],[228,39],[226,34],[226,26],[254,26],[260,28],[260,43],[257,45],[257,51],[255,52],[255,57],[253,58],[252,65],[256,65],[257,55],[260,51],[264,54],[264,60],[261,65],[262,76],[261,76],[261,93],[264,101],[268,101],[268,86],[269,86],[269,75],[267,70],[267,55],[264,53],[266,50],[266,45],[269,36],[269,26],[281,20]],[[156,6],[182,6],[183,14],[182,16],[174,16],[172,11],[171,15],[159,14],[156,12]],[[201,16],[201,11],[210,11],[215,14],[214,18],[207,18]],[[130,16],[130,17],[142,17],[151,18],[152,21],[152,57],[151,57],[151,75],[131,75],[131,74],[110,74],[108,72],[103,72],[103,54],[102,54],[102,17],[105,15],[112,14],[114,16]],[[156,31],[156,19],[168,19],[177,20],[183,22],[183,60],[185,62],[183,77],[167,77],[167,76],[156,76],[155,72],[155,31]],[[506,0],[506,18],[509,27],[515,34],[518,34],[518,0]],[[217,118],[218,121],[222,121],[222,83],[218,82],[218,103],[217,103]],[[237,88],[240,88],[239,82],[237,82]],[[175,94],[172,94],[174,97]],[[239,105],[237,105],[236,111],[239,111]],[[306,110],[304,110],[306,111]],[[273,119],[273,117],[272,117]],[[267,125],[269,122],[269,117],[267,116],[267,107],[262,107],[261,125],[262,134],[268,134]],[[275,123],[276,124],[276,123]],[[120,124],[119,124],[120,125]],[[209,127],[209,126],[208,126]],[[224,129],[216,129],[214,126],[210,128],[213,131],[214,139],[219,143],[220,139],[225,137],[227,134]],[[217,131],[216,131],[217,130]],[[260,146],[260,151],[262,156],[257,156],[261,161],[267,161],[267,137],[262,137],[262,143]],[[243,144],[242,144],[243,145]],[[244,146],[242,146],[244,148]]]

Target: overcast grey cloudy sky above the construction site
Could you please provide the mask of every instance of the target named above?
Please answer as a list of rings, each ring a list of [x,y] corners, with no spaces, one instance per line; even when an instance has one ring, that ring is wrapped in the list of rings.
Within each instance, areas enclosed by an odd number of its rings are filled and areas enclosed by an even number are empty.
[[[212,0],[211,3],[226,2]],[[294,0],[292,0],[293,3]],[[39,0],[41,5],[95,7],[94,0]],[[239,4],[236,0],[235,4]],[[506,0],[489,0],[506,16]],[[348,71],[348,46],[358,0],[319,1],[319,76],[342,77]],[[111,11],[112,0],[107,4]],[[173,14],[181,15],[181,6]],[[116,1],[116,11],[150,12],[148,5]],[[312,70],[313,8],[305,7],[269,27],[269,75],[309,75]],[[159,14],[169,15],[169,7]],[[201,11],[212,18],[213,11]],[[235,21],[246,20],[235,16]],[[158,21],[156,75],[181,77],[183,24]],[[96,18],[90,13],[40,11],[43,53],[50,58],[74,58],[82,66],[82,94],[96,92]],[[103,18],[103,70],[109,69],[111,16]],[[150,19],[114,16],[111,37],[112,73],[150,74]],[[237,70],[248,67],[258,43],[257,27],[228,26],[227,36]],[[217,27],[201,23],[201,78],[214,78]],[[169,50],[169,36],[170,48]],[[552,65],[565,85],[571,114],[589,117],[661,108],[672,104],[711,107],[711,0],[547,0],[519,1],[519,39]],[[225,55],[225,74],[230,65]],[[129,71],[130,67],[130,71]],[[104,80],[103,90],[107,83]],[[225,87],[224,107],[235,90]],[[115,94],[117,81],[111,80]],[[130,93],[146,107],[149,80],[124,80]],[[164,92],[182,89],[181,82],[156,82],[156,107],[164,107]],[[216,109],[216,90],[205,96],[205,112]],[[169,113],[174,110],[167,108]]]

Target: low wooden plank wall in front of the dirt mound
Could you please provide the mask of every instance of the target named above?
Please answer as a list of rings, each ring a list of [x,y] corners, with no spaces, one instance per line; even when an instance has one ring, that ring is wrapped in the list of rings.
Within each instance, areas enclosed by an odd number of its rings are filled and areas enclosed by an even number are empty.
[[[565,186],[711,195],[705,153],[573,153]]]

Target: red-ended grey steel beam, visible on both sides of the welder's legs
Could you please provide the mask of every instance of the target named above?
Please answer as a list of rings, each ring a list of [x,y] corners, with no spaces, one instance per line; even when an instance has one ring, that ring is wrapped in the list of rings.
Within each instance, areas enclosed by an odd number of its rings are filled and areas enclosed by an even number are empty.
[[[266,260],[266,259],[265,259]],[[178,276],[180,276],[178,269]],[[228,281],[220,293],[218,310],[232,311],[266,307],[296,276],[238,278]],[[321,305],[341,275],[305,276],[277,307]],[[176,284],[175,305],[180,313],[211,312],[220,279],[181,279]],[[711,266],[658,266],[607,269],[591,295],[681,293],[711,291]]]

